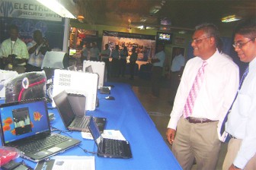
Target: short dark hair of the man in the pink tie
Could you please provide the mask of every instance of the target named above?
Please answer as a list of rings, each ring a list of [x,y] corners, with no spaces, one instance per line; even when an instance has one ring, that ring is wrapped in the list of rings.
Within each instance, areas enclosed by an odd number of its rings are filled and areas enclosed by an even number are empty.
[[[216,25],[211,23],[203,23],[195,27],[197,30],[203,30],[208,36],[213,36],[216,41],[219,39],[219,29]]]

